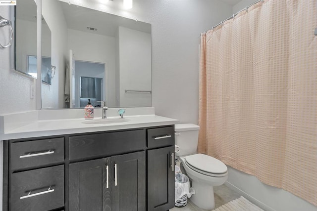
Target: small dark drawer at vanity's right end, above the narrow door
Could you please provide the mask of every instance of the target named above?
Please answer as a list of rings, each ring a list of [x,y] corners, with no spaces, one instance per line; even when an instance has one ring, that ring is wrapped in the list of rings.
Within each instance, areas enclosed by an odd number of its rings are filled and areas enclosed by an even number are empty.
[[[174,145],[174,126],[148,129],[148,147]]]

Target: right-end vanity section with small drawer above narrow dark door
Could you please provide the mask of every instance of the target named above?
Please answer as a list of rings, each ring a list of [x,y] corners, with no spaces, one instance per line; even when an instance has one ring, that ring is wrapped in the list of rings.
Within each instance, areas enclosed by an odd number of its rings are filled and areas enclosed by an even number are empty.
[[[148,211],[174,207],[174,126],[148,129]]]

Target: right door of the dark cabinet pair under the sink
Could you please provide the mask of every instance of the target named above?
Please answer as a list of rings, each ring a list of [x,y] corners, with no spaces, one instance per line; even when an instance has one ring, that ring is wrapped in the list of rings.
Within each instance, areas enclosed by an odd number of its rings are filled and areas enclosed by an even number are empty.
[[[112,211],[145,211],[145,152],[114,156],[111,160]]]

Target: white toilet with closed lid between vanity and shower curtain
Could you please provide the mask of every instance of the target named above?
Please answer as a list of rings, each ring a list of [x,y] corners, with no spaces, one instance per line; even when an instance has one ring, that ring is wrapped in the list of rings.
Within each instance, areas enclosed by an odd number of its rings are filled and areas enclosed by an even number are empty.
[[[176,157],[181,170],[192,182],[195,194],[190,200],[204,210],[214,209],[213,186],[222,185],[228,178],[228,169],[221,161],[204,154],[197,154],[199,126],[175,125],[175,144],[180,151]]]

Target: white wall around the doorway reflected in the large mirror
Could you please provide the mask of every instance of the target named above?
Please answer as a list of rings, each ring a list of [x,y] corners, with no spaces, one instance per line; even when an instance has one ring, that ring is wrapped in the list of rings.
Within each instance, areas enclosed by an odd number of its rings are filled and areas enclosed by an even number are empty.
[[[68,49],[72,49],[75,60],[105,64],[107,106],[115,107],[114,37],[68,29]]]

